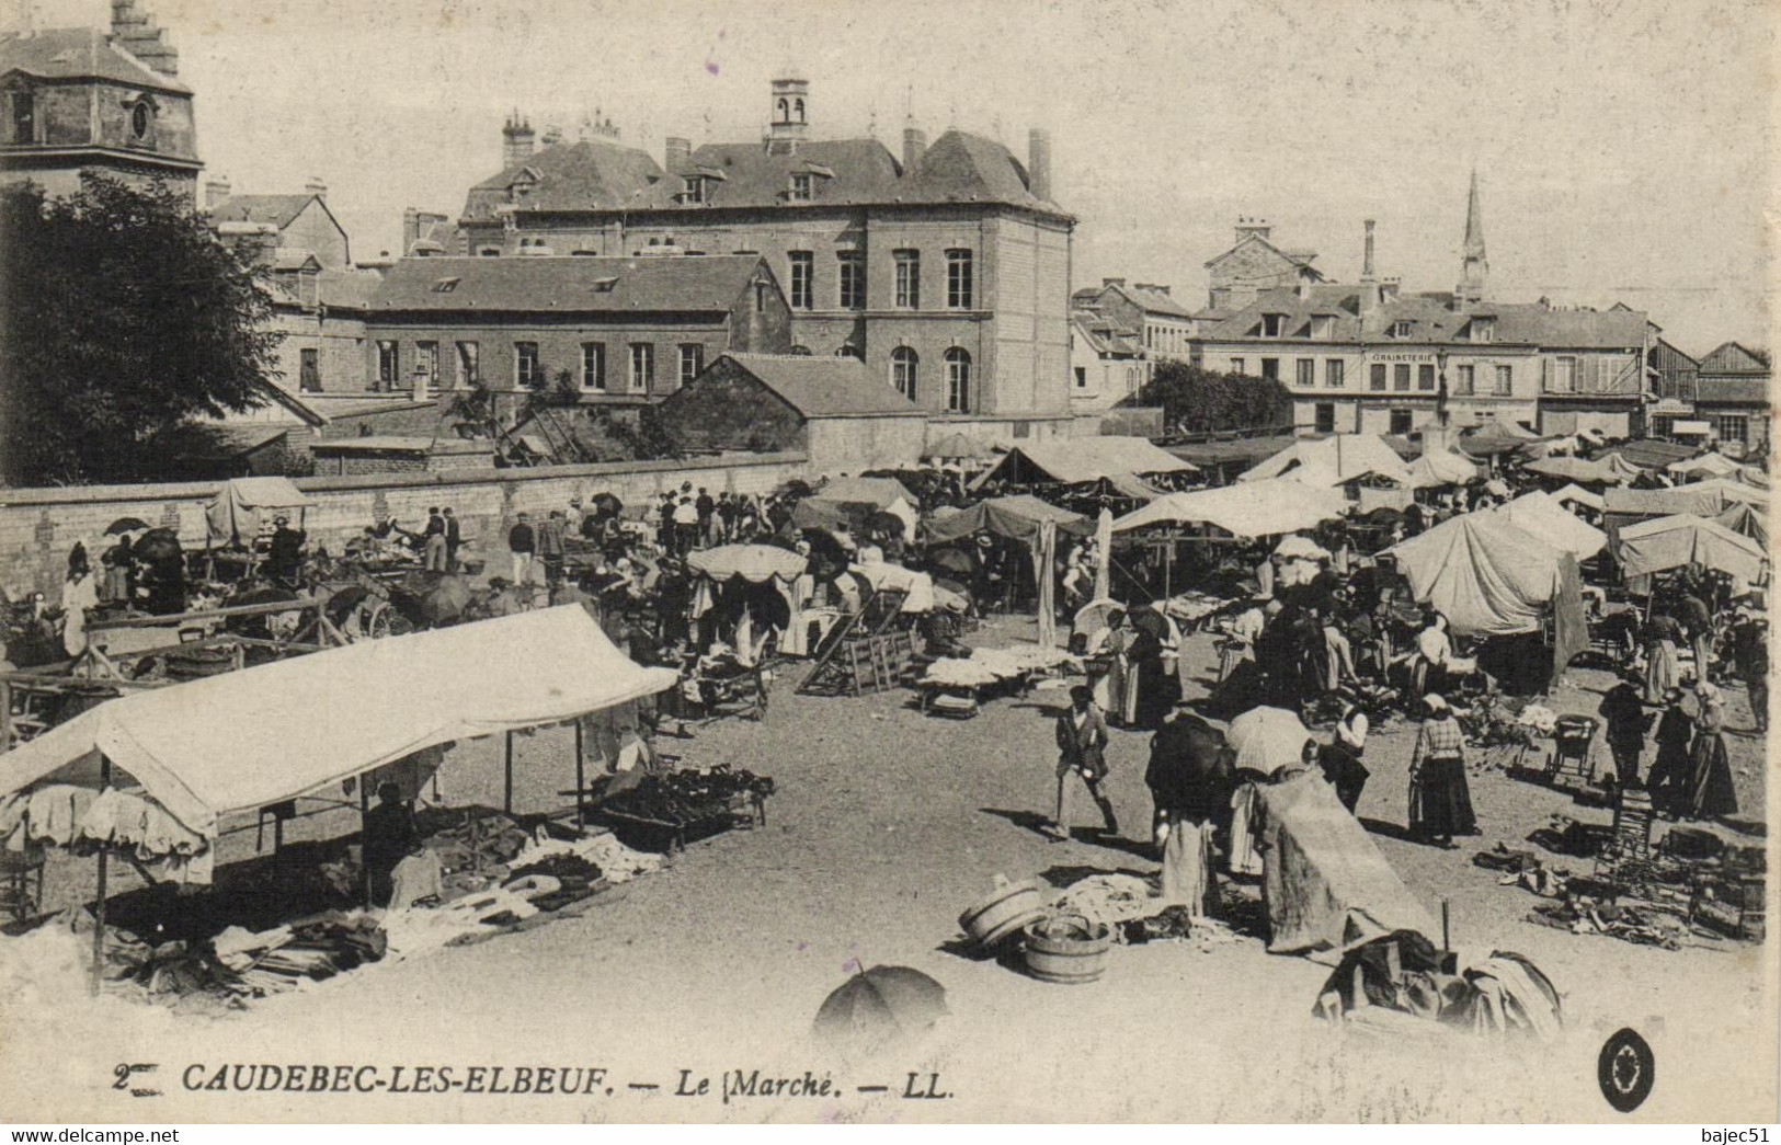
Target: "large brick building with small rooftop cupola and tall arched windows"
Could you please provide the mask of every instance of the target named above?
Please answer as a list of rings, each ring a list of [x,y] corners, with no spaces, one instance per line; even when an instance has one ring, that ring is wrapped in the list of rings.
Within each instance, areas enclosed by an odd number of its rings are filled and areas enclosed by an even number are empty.
[[[1022,164],[960,130],[930,146],[908,125],[898,157],[816,139],[816,121],[810,85],[780,78],[764,139],[670,139],[657,164],[609,125],[534,150],[515,116],[502,171],[470,189],[458,253],[759,255],[785,287],[794,347],[860,358],[935,433],[1067,434],[1076,221],[1053,201],[1045,132]]]

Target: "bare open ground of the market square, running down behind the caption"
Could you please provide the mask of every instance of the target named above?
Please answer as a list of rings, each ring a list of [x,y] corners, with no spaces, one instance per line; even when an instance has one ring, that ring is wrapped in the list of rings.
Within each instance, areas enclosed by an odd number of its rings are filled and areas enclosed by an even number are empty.
[[[1003,621],[976,637],[1029,632]],[[1184,655],[1190,680],[1213,668],[1209,639]],[[1749,944],[1683,951],[1571,935],[1525,921],[1530,892],[1500,887],[1473,853],[1526,837],[1549,816],[1606,821],[1567,796],[1503,775],[1473,780],[1484,837],[1441,851],[1402,839],[1411,732],[1368,744],[1361,803],[1373,839],[1409,889],[1452,903],[1459,947],[1514,949],[1558,985],[1569,1031],[1549,1047],[1471,1040],[1378,1045],[1343,1040],[1311,1017],[1327,969],[1270,956],[1256,938],[1200,953],[1115,949],[1106,978],[1051,987],[949,953],[956,917],[1004,873],[1149,874],[1145,846],[1047,844],[1054,748],[1045,705],[1060,693],[997,700],[972,721],[928,719],[907,693],[794,696],[778,684],[766,725],[727,721],[666,741],[687,762],[773,775],[769,824],[693,846],[673,869],[602,896],[581,917],[385,963],[237,1015],[176,1017],[78,997],[14,1003],[0,1077],[14,1117],[126,1120],[1603,1120],[1596,1051],[1621,1026],[1644,1031],[1658,1084],[1639,1118],[1763,1120],[1774,1109],[1774,965]],[[1573,671],[1551,705],[1594,711],[1606,675]],[[1190,691],[1199,684],[1190,684]],[[1751,725],[1729,691],[1729,725]],[[1761,741],[1728,737],[1740,801],[1763,800]],[[1143,833],[1145,737],[1115,732],[1111,794],[1127,837]],[[520,744],[520,808],[572,784],[568,735]],[[452,801],[499,805],[499,741],[461,746],[443,773]],[[344,833],[356,819],[294,824],[292,837]],[[228,840],[253,853],[253,832]],[[1567,865],[1564,858],[1553,858]],[[1573,869],[1583,864],[1569,860]],[[91,864],[57,867],[50,894],[75,894]],[[1770,944],[1770,949],[1774,944]],[[939,981],[951,1017],[924,1042],[874,1061],[837,1061],[809,1040],[810,1019],[853,963],[905,963]],[[1770,992],[1765,994],[1765,981]],[[1770,1027],[1772,1029],[1772,1027]],[[160,1068],[112,1090],[119,1061]],[[189,1065],[566,1065],[611,1070],[611,1095],[447,1097],[187,1093]],[[801,1076],[841,1095],[677,1097],[679,1070]],[[908,1076],[946,1099],[901,1097]],[[930,1076],[939,1084],[930,1086]],[[410,1070],[411,1076],[411,1070]],[[148,1079],[144,1083],[144,1077]],[[632,1084],[657,1084],[636,1090]],[[887,1093],[858,1093],[885,1084]]]

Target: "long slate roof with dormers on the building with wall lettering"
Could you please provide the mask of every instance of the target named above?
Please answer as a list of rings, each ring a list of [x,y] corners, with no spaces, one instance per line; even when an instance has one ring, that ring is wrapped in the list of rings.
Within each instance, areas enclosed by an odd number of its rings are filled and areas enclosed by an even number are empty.
[[[1450,292],[1400,294],[1364,319],[1355,285],[1313,283],[1307,297],[1291,287],[1263,290],[1254,303],[1211,324],[1204,338],[1259,338],[1261,317],[1284,313],[1286,338],[1309,338],[1313,315],[1336,319],[1334,342],[1460,342],[1473,345],[1473,315],[1496,319],[1496,342],[1567,349],[1630,349],[1644,344],[1646,315],[1633,310],[1551,310],[1539,303],[1482,303],[1453,310]],[[1202,315],[1204,317],[1204,315]],[[1411,322],[1405,338],[1393,338],[1396,322]],[[1266,342],[1273,342],[1268,338]]]

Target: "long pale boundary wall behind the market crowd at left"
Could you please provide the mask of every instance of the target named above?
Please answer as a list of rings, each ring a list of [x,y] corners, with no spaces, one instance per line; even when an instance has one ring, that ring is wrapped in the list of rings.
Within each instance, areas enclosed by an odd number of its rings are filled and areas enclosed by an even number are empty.
[[[573,497],[588,502],[595,493],[613,493],[629,508],[679,488],[682,481],[712,493],[764,493],[809,474],[803,454],[750,454],[493,472],[299,477],[296,484],[317,502],[303,518],[313,543],[338,550],[347,538],[392,513],[399,524],[419,531],[429,508],[451,506],[463,522],[474,556],[477,543],[484,552],[506,552],[506,527],[522,509],[540,518],[550,509],[566,509]],[[87,554],[96,559],[105,548],[105,527],[119,516],[178,529],[187,548],[203,548],[205,508],[217,488],[221,483],[207,481],[0,490],[0,588],[14,598],[43,589],[57,600],[69,548],[85,541]]]

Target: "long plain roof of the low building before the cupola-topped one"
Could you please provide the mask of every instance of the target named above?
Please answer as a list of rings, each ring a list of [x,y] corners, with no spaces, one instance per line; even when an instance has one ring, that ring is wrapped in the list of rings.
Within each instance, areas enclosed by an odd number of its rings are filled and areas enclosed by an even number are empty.
[[[727,313],[757,267],[757,255],[401,258],[372,292],[369,310]],[[451,280],[456,285],[440,290]]]

